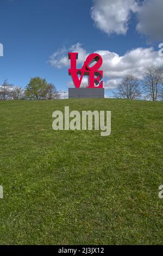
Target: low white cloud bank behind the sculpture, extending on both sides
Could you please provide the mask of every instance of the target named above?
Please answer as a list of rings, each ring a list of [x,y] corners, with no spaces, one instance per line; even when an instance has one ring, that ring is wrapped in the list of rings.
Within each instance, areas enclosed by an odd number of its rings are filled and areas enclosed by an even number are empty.
[[[79,68],[84,64],[86,57],[90,54],[87,52],[81,44],[77,43],[70,47],[70,49],[79,52]],[[68,50],[70,50],[68,49]],[[54,59],[55,62],[51,62],[52,66],[57,68],[70,67],[70,59],[67,56],[67,50],[58,54],[55,52],[53,56],[57,56]],[[145,69],[152,65],[163,64],[163,58],[159,56],[158,51],[155,51],[153,47],[148,48],[136,48],[127,51],[124,55],[120,56],[116,52],[110,52],[109,50],[97,50],[96,53],[103,58],[103,65],[101,70],[104,73],[104,87],[109,89],[115,89],[121,82],[121,79],[128,73],[132,73],[137,78],[141,79]],[[82,82],[86,82],[86,78]],[[72,81],[68,86],[72,86]]]

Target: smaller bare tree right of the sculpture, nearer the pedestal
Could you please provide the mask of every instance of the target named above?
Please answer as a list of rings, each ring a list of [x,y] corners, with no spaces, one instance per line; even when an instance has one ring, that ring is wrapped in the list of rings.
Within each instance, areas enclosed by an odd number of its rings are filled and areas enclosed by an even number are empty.
[[[140,95],[139,80],[133,74],[127,74],[120,85],[118,85],[117,98],[137,99]]]

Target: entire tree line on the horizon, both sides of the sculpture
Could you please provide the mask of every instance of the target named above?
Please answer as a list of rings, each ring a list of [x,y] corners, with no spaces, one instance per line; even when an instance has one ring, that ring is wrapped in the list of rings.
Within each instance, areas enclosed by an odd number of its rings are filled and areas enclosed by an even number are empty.
[[[83,87],[86,87],[84,84]],[[126,74],[114,92],[116,98],[135,100],[144,96],[147,99],[156,101],[163,99],[163,67],[149,67],[143,78],[140,80],[134,74]],[[35,77],[30,79],[29,84],[23,90],[22,87],[13,86],[7,80],[0,86],[0,99],[58,99],[60,94],[53,84],[49,84],[46,79]]]

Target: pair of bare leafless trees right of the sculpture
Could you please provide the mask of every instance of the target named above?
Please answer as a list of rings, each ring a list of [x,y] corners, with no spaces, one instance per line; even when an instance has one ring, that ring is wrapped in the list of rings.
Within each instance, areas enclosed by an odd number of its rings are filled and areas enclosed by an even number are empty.
[[[131,100],[142,96],[153,101],[163,99],[163,67],[149,67],[141,80],[133,74],[126,74],[114,94],[117,98]]]

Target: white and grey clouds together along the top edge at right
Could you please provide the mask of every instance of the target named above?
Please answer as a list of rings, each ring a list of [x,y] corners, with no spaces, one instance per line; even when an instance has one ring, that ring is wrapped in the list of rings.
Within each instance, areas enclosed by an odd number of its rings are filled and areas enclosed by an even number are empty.
[[[152,40],[163,40],[162,0],[93,0],[91,17],[95,26],[106,34],[128,31],[131,14],[137,16],[137,31]]]

